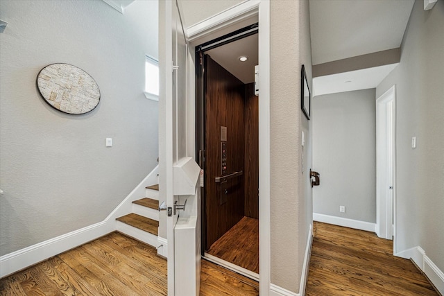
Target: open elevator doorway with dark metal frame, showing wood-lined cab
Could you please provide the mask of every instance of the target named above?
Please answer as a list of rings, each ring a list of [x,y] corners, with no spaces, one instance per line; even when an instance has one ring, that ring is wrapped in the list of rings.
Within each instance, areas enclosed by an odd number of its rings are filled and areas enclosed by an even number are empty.
[[[259,279],[257,24],[196,47],[202,254]],[[241,57],[246,57],[241,61]]]

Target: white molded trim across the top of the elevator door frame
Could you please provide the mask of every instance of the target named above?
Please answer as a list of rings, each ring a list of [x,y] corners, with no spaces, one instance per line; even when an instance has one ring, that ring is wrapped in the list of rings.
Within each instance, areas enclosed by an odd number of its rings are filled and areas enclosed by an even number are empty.
[[[238,21],[257,15],[259,4],[260,0],[246,0],[236,6],[232,6],[219,12],[212,17],[208,17],[203,21],[199,21],[198,23],[189,26],[186,30],[188,41],[194,42],[194,40],[197,40],[204,35],[209,35],[223,27],[230,26]]]

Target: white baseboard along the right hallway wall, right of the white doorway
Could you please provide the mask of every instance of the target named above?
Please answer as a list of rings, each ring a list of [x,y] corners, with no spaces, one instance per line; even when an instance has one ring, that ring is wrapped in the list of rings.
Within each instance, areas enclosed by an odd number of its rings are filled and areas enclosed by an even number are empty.
[[[422,247],[412,247],[409,250],[396,253],[395,256],[415,261],[416,265],[418,265],[422,272],[432,281],[439,293],[444,295],[444,272],[429,259],[425,251],[422,250]]]

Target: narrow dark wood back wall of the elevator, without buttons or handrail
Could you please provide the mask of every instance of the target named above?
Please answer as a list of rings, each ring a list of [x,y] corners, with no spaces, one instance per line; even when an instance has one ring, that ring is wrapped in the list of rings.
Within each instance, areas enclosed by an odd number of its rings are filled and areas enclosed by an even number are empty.
[[[245,216],[259,219],[259,97],[255,84],[245,85]]]

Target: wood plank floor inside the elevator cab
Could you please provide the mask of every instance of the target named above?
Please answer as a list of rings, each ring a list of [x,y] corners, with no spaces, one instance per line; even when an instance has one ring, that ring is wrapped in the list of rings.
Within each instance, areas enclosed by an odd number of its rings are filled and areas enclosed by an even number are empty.
[[[242,218],[207,253],[259,273],[259,220]]]

